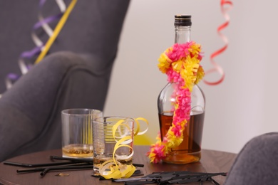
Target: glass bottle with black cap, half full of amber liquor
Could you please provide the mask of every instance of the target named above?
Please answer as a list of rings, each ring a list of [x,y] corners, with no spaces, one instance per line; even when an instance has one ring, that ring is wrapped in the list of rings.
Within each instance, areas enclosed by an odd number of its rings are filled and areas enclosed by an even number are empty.
[[[190,15],[175,15],[175,43],[190,41]],[[168,83],[158,96],[158,116],[161,139],[172,125],[175,102],[176,83]],[[190,120],[183,132],[180,146],[171,149],[163,162],[187,164],[199,162],[201,159],[202,129],[205,117],[205,95],[198,85],[194,85],[191,93]]]

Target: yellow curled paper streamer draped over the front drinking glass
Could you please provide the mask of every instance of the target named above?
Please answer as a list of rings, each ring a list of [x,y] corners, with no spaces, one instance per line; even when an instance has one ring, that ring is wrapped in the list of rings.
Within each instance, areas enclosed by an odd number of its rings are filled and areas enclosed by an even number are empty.
[[[148,125],[148,120],[146,120],[143,117],[138,117],[135,118],[134,120],[137,125],[137,129],[133,133],[134,136],[137,134],[144,134],[145,132],[148,131],[147,128],[144,131],[140,132],[140,123],[139,123],[139,120],[141,120]],[[133,142],[133,137],[128,135],[128,133],[123,132],[121,129],[119,129],[119,127],[125,127],[126,131],[132,133],[132,129],[125,124],[125,120],[119,120],[115,125],[113,125],[112,134],[113,134],[113,139],[115,139],[116,141],[114,151],[113,151],[113,159],[103,162],[103,164],[101,164],[101,166],[99,167],[99,174],[101,174],[101,176],[103,176],[105,179],[129,178],[130,176],[133,175],[135,171],[135,166],[133,166],[133,164],[121,164],[120,162],[118,162],[118,160],[130,159],[131,157],[133,157],[134,154],[133,147],[128,145],[131,142]],[[120,136],[116,137],[117,130]],[[128,156],[117,155],[115,152],[120,147],[128,147],[131,149],[132,152]]]

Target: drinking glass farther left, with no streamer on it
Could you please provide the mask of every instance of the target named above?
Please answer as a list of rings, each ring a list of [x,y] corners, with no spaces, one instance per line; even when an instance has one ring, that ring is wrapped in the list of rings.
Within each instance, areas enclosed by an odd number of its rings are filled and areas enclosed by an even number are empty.
[[[101,110],[68,109],[61,112],[63,157],[93,158],[93,118]]]

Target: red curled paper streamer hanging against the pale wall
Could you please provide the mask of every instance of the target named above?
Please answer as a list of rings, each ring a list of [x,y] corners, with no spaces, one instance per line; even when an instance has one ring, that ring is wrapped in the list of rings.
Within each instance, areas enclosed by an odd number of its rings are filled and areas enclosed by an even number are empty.
[[[222,23],[218,28],[217,28],[217,33],[219,34],[220,38],[222,38],[222,40],[224,41],[225,43],[225,46],[223,46],[222,48],[220,48],[219,50],[215,51],[214,53],[211,54],[210,56],[210,62],[212,63],[212,65],[214,66],[214,68],[210,69],[210,70],[207,70],[205,73],[206,73],[206,76],[209,74],[209,73],[213,73],[213,72],[218,72],[220,73],[220,79],[219,80],[216,80],[214,82],[209,82],[205,79],[203,79],[204,83],[206,83],[207,85],[218,85],[220,83],[222,83],[222,81],[224,80],[225,78],[225,73],[224,73],[224,70],[221,68],[220,65],[218,65],[217,63],[215,63],[214,61],[214,58],[216,56],[219,56],[221,53],[223,53],[226,49],[227,49],[227,46],[228,46],[228,39],[226,36],[224,36],[221,31],[226,28],[229,23],[230,23],[230,16],[227,14],[227,11],[229,11],[231,8],[232,8],[232,1],[226,1],[226,0],[221,0],[221,11],[222,11],[222,14],[223,16],[225,17],[225,23]],[[225,8],[225,6],[228,5],[229,7],[228,8]]]

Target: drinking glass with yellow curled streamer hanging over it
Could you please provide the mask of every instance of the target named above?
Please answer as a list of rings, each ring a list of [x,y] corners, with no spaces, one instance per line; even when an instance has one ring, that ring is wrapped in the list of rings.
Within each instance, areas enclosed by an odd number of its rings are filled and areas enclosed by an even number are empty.
[[[113,159],[117,164],[133,162],[134,119],[129,117],[97,117],[93,119],[93,171]],[[105,172],[104,172],[105,174]]]

